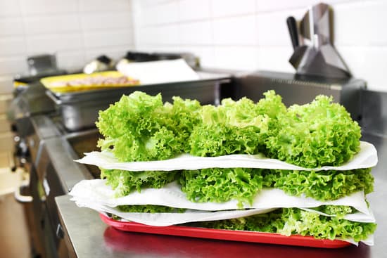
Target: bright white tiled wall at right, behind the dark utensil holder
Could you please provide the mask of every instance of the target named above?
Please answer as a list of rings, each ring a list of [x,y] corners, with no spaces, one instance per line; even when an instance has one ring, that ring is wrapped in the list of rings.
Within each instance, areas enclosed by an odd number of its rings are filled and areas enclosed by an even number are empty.
[[[293,72],[286,18],[300,20],[319,0],[132,0],[142,51],[190,51],[203,67]],[[355,77],[387,91],[387,1],[325,0],[334,44]],[[163,12],[163,13],[160,13]]]

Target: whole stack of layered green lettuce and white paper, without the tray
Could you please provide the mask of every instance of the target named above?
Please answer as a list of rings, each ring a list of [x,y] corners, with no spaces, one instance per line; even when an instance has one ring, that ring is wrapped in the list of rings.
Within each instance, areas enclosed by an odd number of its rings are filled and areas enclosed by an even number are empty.
[[[77,205],[153,226],[300,234],[372,244],[365,195],[374,146],[332,98],[286,108],[274,91],[222,105],[136,91],[99,113],[101,179],[71,191]]]

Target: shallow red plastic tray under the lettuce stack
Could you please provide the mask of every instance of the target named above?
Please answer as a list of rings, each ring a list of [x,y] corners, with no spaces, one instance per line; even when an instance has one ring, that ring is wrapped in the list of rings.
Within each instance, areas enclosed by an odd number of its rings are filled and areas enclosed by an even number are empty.
[[[100,214],[100,217],[103,222],[121,231],[305,247],[340,248],[350,245],[350,243],[342,240],[316,239],[312,236],[283,236],[277,233],[231,231],[225,229],[196,228],[191,226],[148,226],[136,222],[116,221],[106,217],[104,214]]]

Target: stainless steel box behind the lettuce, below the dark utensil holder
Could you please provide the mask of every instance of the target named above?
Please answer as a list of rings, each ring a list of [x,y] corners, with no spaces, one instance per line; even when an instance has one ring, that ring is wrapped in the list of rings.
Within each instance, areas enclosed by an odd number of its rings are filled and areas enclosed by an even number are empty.
[[[234,79],[236,98],[248,96],[253,101],[263,98],[263,93],[274,89],[282,96],[286,106],[305,104],[315,96],[333,96],[350,112],[353,120],[362,119],[362,91],[366,82],[362,79],[337,79],[307,75],[294,75],[284,72],[259,71]]]

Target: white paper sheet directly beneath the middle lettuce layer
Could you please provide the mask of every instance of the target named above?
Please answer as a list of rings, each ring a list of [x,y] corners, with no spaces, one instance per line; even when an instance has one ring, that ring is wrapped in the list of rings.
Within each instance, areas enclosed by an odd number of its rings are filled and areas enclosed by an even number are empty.
[[[70,195],[72,195],[72,200],[74,200],[77,205],[91,208],[103,207],[103,210],[100,211],[110,212],[113,214],[116,214],[115,212],[119,212],[118,209],[114,208],[118,205],[163,205],[169,207],[191,209],[195,210],[195,213],[203,211],[205,214],[208,214],[208,212],[213,213],[215,211],[227,210],[228,212],[235,212],[235,214],[238,214],[238,212],[246,212],[244,210],[234,210],[240,209],[236,200],[221,203],[191,202],[190,200],[186,199],[186,195],[180,190],[176,182],[169,183],[163,188],[146,188],[144,190],[141,190],[141,193],[134,192],[120,198],[115,198],[115,191],[113,191],[110,186],[106,186],[105,180],[83,180],[80,181],[80,183],[77,183],[74,188],[72,188],[72,190],[70,191]],[[358,216],[355,215],[355,217],[354,214],[351,214],[351,220],[358,221],[359,219],[361,219],[361,221],[374,222],[374,216],[372,213],[369,212],[367,203],[364,200],[364,193],[362,192],[353,193],[352,195],[345,196],[338,200],[319,201],[313,198],[286,195],[284,191],[281,191],[280,189],[276,188],[266,188],[258,192],[252,205],[245,204],[243,208],[266,210],[280,207],[311,208],[318,207],[321,205],[351,206],[357,209],[357,213],[359,214]],[[106,209],[109,209],[109,211]],[[139,215],[136,216],[138,217]],[[148,221],[147,223],[160,223],[163,225],[166,223],[166,221],[153,221],[152,218],[154,216],[156,215],[149,215],[149,217],[151,217],[151,221]],[[174,216],[176,216],[176,220],[174,220]],[[141,218],[144,217],[148,217],[148,215],[141,215]],[[179,220],[179,218],[181,217],[184,217],[184,214],[174,213],[172,217],[169,216],[167,219],[168,221],[172,221],[172,224],[181,224],[183,223]],[[222,217],[219,217],[218,219],[222,219]],[[144,223],[144,221],[142,221],[141,223]]]

